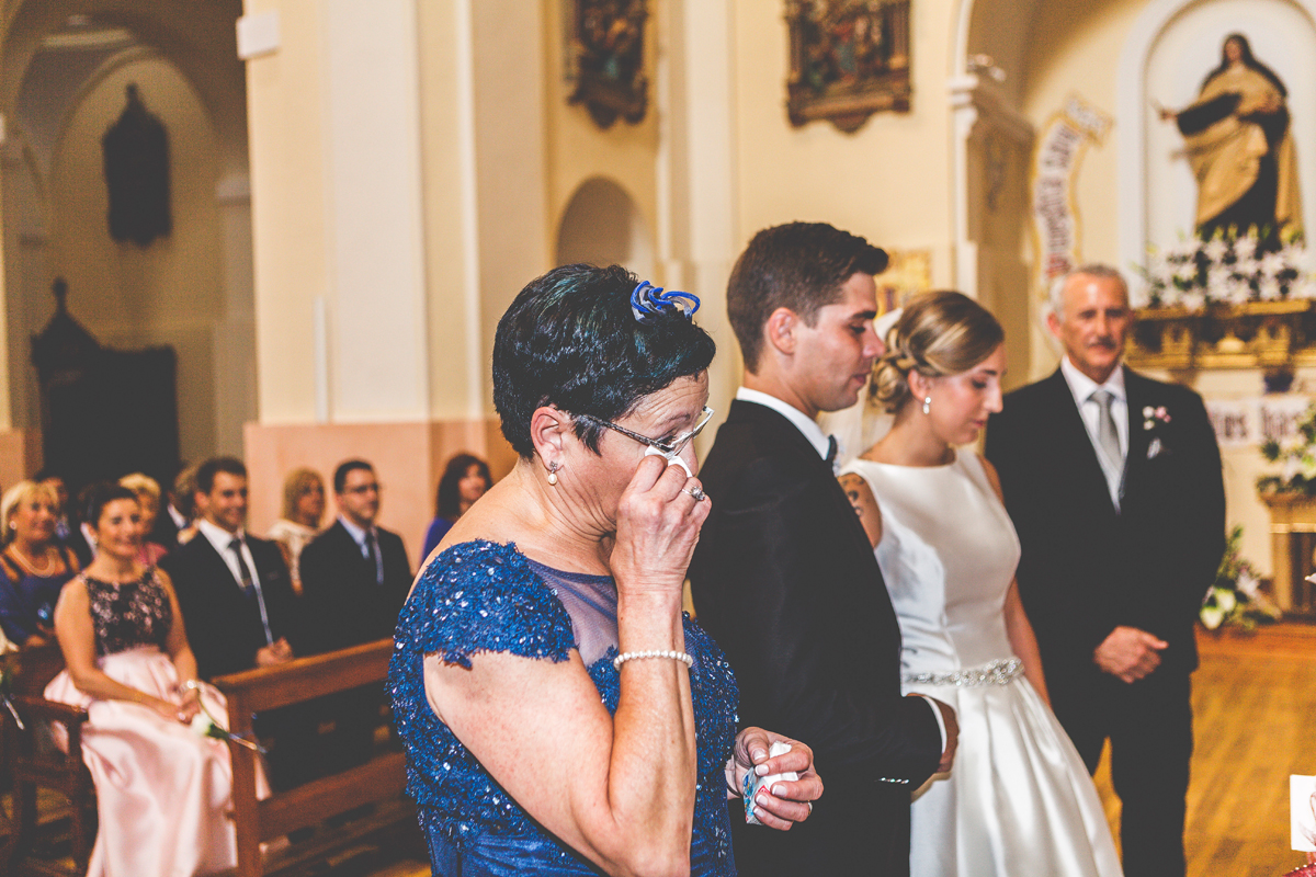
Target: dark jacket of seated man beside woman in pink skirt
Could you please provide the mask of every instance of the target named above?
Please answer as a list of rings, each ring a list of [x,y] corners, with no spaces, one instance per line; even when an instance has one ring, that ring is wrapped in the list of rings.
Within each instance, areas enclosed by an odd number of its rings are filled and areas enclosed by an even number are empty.
[[[270,631],[286,636],[295,653],[301,653],[296,597],[288,580],[279,547],[246,534],[255,575],[261,580]],[[188,643],[196,655],[201,678],[251,669],[255,653],[266,646],[265,627],[257,601],[242,593],[224,557],[205,534],[197,533],[161,560],[174,580]]]

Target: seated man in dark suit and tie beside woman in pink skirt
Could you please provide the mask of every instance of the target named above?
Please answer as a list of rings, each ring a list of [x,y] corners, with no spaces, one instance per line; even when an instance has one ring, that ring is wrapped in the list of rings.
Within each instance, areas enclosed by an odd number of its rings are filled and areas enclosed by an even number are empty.
[[[188,642],[201,678],[292,660],[296,605],[288,568],[278,546],[243,531],[246,467],[233,458],[207,460],[196,472],[196,538],[167,555],[161,567],[172,577]],[[282,713],[282,711],[280,711]],[[295,785],[292,759],[303,747],[297,722],[287,714],[262,715],[258,732],[275,734],[271,781]]]

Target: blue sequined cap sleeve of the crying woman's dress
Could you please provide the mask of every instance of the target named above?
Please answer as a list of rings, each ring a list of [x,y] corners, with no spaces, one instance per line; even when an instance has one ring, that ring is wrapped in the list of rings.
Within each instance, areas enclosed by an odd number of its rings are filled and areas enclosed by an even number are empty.
[[[476,652],[565,661],[575,646],[570,615],[525,556],[486,540],[453,546],[425,568],[397,639],[466,668]]]

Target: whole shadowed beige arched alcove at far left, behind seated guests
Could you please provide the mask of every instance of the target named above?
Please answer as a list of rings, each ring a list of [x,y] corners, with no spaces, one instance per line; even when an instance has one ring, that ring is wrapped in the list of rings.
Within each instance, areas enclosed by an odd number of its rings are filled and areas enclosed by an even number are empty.
[[[29,339],[64,276],[70,310],[103,343],[178,352],[182,455],[241,454],[257,417],[242,4],[13,5],[0,66],[13,426],[39,425]],[[174,229],[145,247],[107,225],[100,139],[129,84],[170,138]]]

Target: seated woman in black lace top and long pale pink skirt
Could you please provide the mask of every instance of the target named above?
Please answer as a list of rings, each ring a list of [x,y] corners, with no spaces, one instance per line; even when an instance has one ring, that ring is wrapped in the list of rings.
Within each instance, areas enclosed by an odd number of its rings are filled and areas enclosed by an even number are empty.
[[[89,493],[99,551],[55,606],[67,669],[46,697],[86,707],[83,759],[100,830],[88,877],[205,874],[236,864],[225,743],[190,724],[222,697],[196,680],[174,586],[141,563],[141,511],[129,488]],[[263,780],[261,780],[263,785]]]

